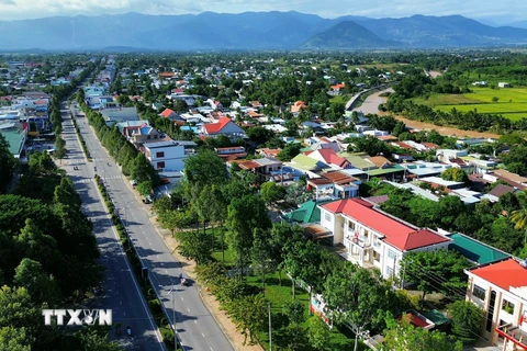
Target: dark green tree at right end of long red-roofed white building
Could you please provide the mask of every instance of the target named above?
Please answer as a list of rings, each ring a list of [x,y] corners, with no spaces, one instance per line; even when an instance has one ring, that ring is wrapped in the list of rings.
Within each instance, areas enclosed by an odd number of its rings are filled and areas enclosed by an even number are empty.
[[[464,269],[469,267],[471,263],[463,256],[446,249],[411,252],[401,261],[404,280],[417,285],[423,301],[431,292],[464,296]]]

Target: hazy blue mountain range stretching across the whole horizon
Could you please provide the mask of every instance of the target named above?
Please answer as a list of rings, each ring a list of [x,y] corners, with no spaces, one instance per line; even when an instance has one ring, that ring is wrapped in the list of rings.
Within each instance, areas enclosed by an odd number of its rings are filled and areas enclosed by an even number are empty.
[[[3,50],[448,48],[527,45],[527,29],[490,26],[461,15],[329,20],[294,11],[130,12],[0,21],[0,43]]]

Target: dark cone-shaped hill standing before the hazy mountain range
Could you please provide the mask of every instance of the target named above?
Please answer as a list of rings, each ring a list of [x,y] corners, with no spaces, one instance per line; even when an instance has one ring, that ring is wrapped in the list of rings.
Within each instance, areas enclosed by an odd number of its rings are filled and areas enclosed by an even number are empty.
[[[344,21],[314,35],[301,45],[304,49],[354,49],[394,47],[396,43],[380,38],[366,27]]]

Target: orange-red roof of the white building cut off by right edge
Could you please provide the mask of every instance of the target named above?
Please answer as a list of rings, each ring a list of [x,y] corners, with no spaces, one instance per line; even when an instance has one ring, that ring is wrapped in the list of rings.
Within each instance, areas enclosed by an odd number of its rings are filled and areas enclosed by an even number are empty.
[[[515,259],[479,267],[469,272],[506,291],[511,286],[527,286],[527,269],[523,268]]]

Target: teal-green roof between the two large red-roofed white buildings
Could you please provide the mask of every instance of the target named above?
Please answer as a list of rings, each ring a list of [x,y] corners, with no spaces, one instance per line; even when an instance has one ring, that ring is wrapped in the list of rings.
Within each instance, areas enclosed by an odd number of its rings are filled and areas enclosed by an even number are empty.
[[[469,261],[478,264],[486,264],[511,257],[511,254],[468,237],[464,234],[452,233],[447,236],[453,240],[449,249],[458,251]]]

